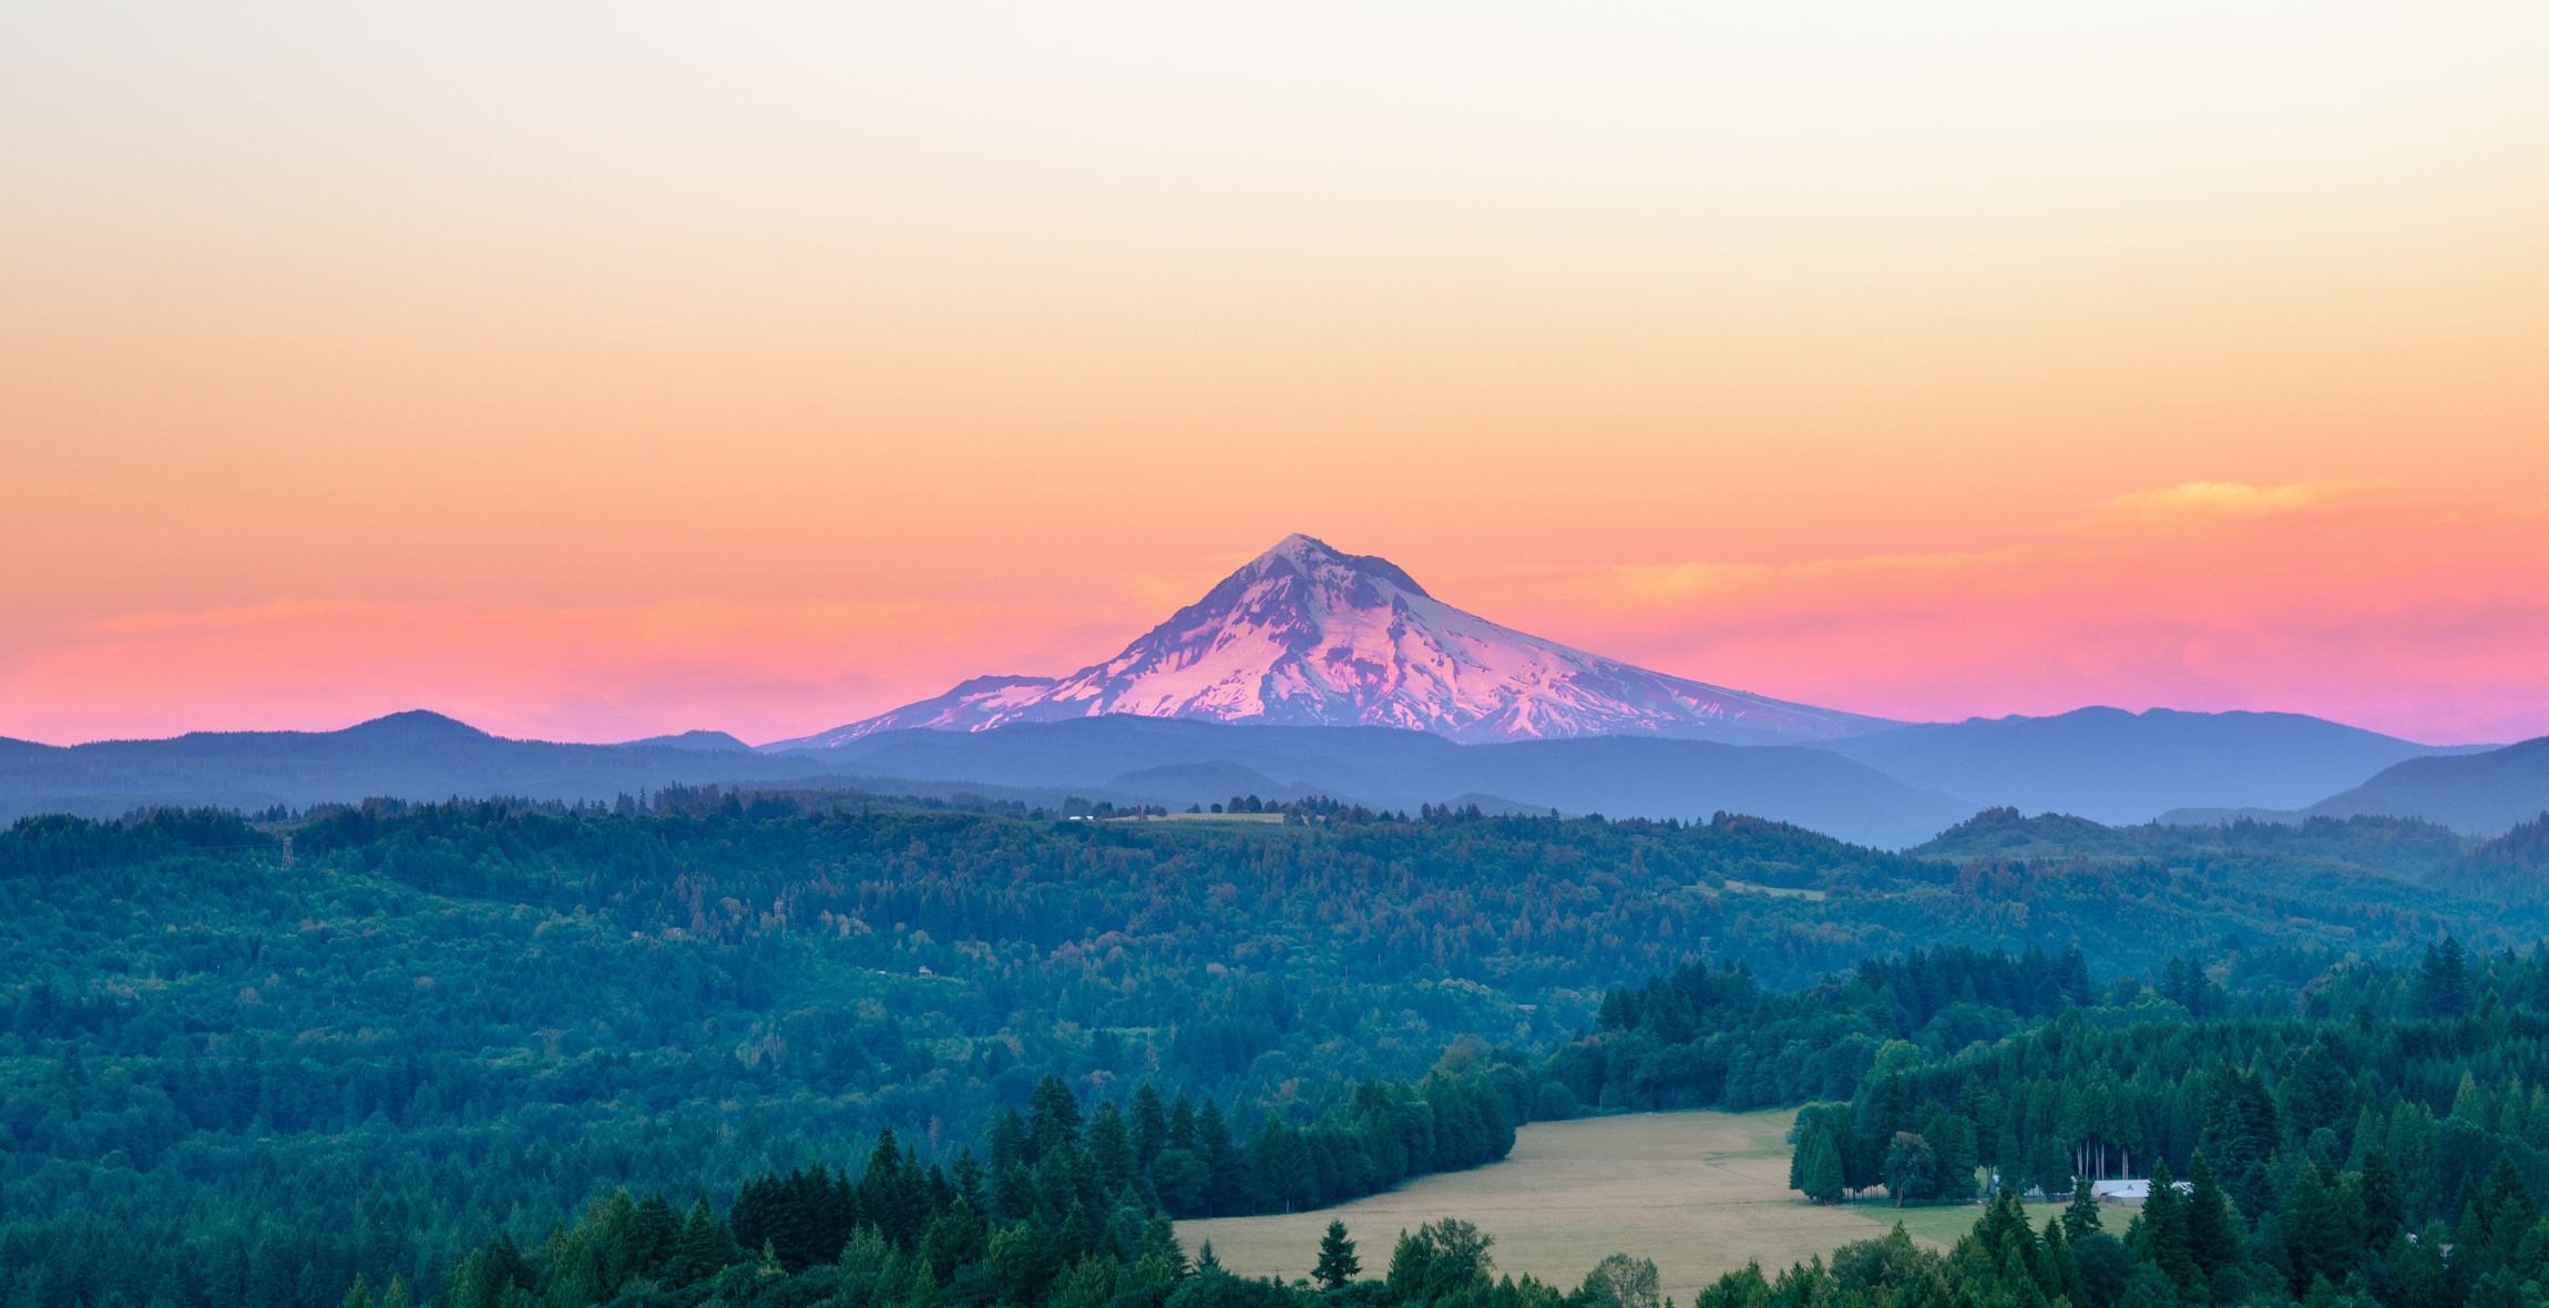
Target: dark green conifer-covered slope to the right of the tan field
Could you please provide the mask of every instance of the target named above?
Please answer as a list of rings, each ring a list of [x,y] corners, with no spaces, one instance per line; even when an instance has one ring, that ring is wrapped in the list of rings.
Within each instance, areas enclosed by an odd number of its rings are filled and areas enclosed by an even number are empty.
[[[2169,966],[2021,1028],[1988,959],[1868,964],[1817,992],[1881,1025],[1968,994],[2001,1030],[1886,1045],[1845,1094],[1797,1114],[1789,1186],[1817,1201],[1884,1186],[1902,1203],[1998,1201],[1947,1257],[1848,1247],[1736,1272],[1700,1308],[1744,1303],[2062,1303],[2518,1308],[2549,1285],[2549,948],[2414,966],[2330,961],[2284,1002]],[[2238,969],[2223,969],[2238,971]],[[1981,982],[1981,984],[1975,984]],[[1649,1002],[1705,989],[1690,977]],[[1983,994],[1973,999],[1970,994]],[[2271,994],[2266,997],[2271,999]],[[1937,1020],[1935,1017],[1935,1020]],[[2100,1206],[2093,1181],[2144,1178]],[[2019,1191],[2072,1196],[2042,1232]]]

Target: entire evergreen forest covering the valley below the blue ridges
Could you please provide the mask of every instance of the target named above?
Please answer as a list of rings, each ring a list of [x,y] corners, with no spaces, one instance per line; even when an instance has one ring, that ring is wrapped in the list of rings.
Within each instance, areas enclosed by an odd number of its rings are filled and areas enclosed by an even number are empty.
[[[2549,1181],[2539,826],[2072,824],[1991,811],[1886,854],[1728,813],[1045,821],[714,788],[25,818],[0,834],[0,1293],[1611,1305],[1636,1267],[1496,1280],[1461,1224],[1303,1290],[1167,1221],[1657,1107],[1810,1104],[1815,1198],[2067,1193],[2126,1152],[2220,1191],[2235,1260],[2197,1283],[2118,1232],[2162,1280],[2070,1308],[2314,1293],[2294,1267],[2378,1298],[2470,1203],[2495,1232]],[[2294,1196],[2353,1214],[2368,1168],[2391,1224],[2294,1265]],[[2503,1293],[2508,1239],[2411,1308]],[[1761,1293],[1909,1293],[1840,1270]]]

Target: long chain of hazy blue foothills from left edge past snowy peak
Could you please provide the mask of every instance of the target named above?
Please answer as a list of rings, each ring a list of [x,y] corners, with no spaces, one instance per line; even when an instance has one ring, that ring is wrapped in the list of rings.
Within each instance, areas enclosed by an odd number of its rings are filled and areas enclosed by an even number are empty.
[[[711,737],[711,739],[701,739]],[[879,732],[816,755],[701,750],[714,732],[660,742],[505,739],[428,711],[342,732],[194,732],[173,739],[33,745],[0,739],[0,824],[28,813],[112,818],[133,808],[265,811],[395,796],[612,801],[686,783],[862,788],[953,803],[1119,808],[1231,796],[1336,796],[1371,808],[1478,803],[1489,811],[1698,818],[1718,808],[1794,821],[1861,844],[1912,844],[1970,813],[1835,755],[1705,739],[1585,737],[1455,745],[1392,727],[1262,727],[1132,714],[1020,722],[997,732]],[[732,739],[732,737],[726,737]]]

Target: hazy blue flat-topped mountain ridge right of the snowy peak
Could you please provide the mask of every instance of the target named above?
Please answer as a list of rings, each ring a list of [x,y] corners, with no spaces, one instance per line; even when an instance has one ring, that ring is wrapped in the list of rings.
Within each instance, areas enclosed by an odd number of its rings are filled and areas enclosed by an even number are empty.
[[[2100,824],[2139,824],[2179,808],[2302,808],[2312,796],[2416,755],[2495,750],[2416,745],[2302,714],[2103,706],[1896,727],[1815,747],[1975,806],[2077,813]]]

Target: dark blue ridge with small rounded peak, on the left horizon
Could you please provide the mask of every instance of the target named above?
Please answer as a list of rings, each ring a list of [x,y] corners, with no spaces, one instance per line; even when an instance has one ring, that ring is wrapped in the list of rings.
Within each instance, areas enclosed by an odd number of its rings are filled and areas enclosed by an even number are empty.
[[[303,808],[365,796],[609,801],[670,783],[793,780],[823,770],[803,757],[686,745],[505,739],[415,709],[342,732],[189,732],[69,747],[0,739],[0,821],[153,806]]]

